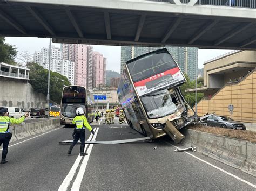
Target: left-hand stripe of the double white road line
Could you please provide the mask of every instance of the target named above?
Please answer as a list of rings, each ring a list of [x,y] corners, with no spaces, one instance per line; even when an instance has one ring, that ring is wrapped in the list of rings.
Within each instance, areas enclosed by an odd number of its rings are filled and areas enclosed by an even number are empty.
[[[93,131],[95,131],[95,129],[96,129],[96,131],[97,131],[98,128],[93,128]],[[91,140],[92,136],[93,136],[93,134],[91,133],[91,135],[89,136],[89,138],[87,139],[87,141],[88,141],[88,140]],[[88,146],[88,144],[85,144],[85,150],[86,150],[87,146]],[[67,190],[67,189],[68,189],[68,187],[69,187],[69,185],[70,185],[70,183],[71,183],[71,181],[72,181],[72,179],[73,179],[73,176],[75,175],[76,170],[77,170],[77,168],[78,168],[78,166],[79,166],[79,164],[80,164],[80,161],[82,160],[82,158],[83,158],[83,156],[80,156],[80,153],[79,153],[79,155],[78,155],[78,157],[77,157],[75,163],[74,163],[73,166],[71,167],[71,169],[70,169],[68,175],[66,175],[66,178],[63,180],[62,184],[60,185],[60,187],[59,187],[59,189],[58,189],[59,191],[60,191],[60,190]]]

